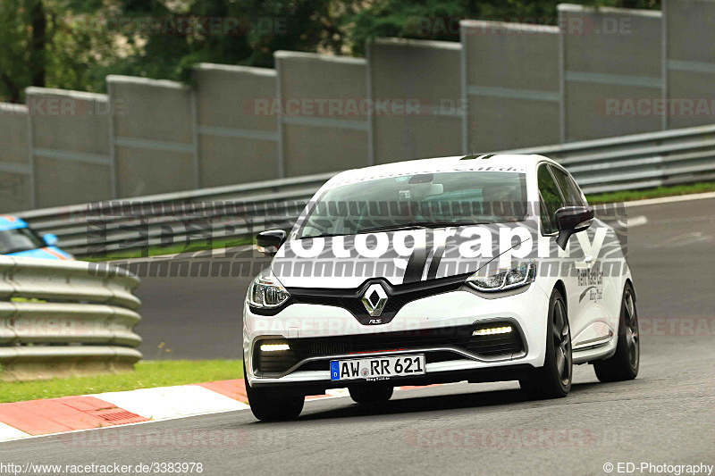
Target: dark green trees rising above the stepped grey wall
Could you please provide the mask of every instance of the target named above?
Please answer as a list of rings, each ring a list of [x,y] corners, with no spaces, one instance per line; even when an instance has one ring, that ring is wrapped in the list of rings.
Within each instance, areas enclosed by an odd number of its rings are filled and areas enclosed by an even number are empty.
[[[575,1],[660,8],[660,0]],[[281,49],[362,55],[374,37],[459,41],[458,19],[548,21],[557,17],[558,3],[0,0],[0,100],[21,101],[31,85],[101,92],[107,74],[188,80],[199,62],[272,67],[273,52]],[[223,31],[222,24],[238,28]]]

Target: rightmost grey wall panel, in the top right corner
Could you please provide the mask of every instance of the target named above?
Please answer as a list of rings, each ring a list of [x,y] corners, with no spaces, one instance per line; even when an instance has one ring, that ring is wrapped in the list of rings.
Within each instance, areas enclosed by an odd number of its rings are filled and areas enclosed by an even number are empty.
[[[663,0],[669,129],[715,122],[715,0]]]

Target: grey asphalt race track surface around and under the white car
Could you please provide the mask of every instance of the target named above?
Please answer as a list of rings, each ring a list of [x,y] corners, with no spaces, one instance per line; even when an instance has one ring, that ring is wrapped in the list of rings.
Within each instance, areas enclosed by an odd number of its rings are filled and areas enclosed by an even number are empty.
[[[715,200],[629,213],[647,219],[628,233],[642,326],[636,380],[602,384],[582,365],[558,400],[527,401],[513,382],[459,383],[396,392],[380,408],[308,401],[295,422],[257,422],[242,411],[13,441],[0,445],[2,461],[540,476],[607,474],[606,463],[715,464]],[[155,322],[139,332],[149,347],[163,338],[180,355],[235,357],[244,293],[242,282],[144,280],[142,314]],[[152,334],[157,322],[170,329]]]

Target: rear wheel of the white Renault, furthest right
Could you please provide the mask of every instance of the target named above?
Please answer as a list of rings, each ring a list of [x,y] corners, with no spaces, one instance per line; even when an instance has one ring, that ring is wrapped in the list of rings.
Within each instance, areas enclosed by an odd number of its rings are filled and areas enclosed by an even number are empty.
[[[635,311],[635,293],[630,284],[623,289],[618,320],[616,354],[593,363],[596,377],[602,382],[634,380],[641,363],[641,337],[638,313]]]

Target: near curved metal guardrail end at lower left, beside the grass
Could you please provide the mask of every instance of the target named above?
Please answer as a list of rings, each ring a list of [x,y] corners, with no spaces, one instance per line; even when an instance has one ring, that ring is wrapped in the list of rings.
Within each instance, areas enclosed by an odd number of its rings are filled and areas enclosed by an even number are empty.
[[[0,380],[131,369],[138,284],[105,263],[0,255]]]

